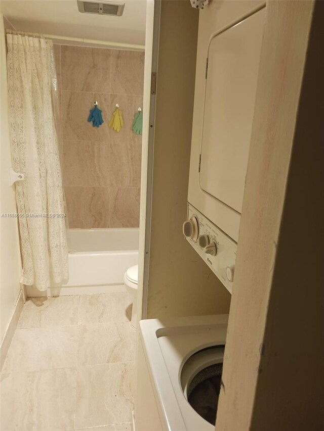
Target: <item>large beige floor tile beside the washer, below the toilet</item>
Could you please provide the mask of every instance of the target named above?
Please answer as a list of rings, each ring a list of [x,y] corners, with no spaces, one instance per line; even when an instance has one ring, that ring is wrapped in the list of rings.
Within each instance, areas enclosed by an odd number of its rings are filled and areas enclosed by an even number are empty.
[[[88,365],[78,369],[75,429],[130,422],[133,409],[132,362]]]

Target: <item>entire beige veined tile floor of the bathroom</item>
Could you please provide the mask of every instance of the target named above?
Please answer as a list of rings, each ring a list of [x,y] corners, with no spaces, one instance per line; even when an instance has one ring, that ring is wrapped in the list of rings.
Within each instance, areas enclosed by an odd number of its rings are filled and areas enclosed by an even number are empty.
[[[128,293],[30,298],[1,372],[1,431],[131,431]]]

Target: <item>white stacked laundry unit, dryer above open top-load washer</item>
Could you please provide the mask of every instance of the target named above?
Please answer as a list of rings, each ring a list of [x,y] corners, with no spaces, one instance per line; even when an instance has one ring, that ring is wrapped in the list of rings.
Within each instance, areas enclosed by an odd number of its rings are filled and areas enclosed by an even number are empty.
[[[204,5],[183,233],[232,293],[266,4]],[[136,431],[215,429],[227,319],[140,322]]]

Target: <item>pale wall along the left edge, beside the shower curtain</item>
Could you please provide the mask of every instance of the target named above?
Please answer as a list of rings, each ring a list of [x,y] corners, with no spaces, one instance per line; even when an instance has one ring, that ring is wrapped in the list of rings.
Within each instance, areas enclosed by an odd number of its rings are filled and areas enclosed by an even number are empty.
[[[10,27],[5,21],[5,26]],[[9,183],[11,152],[8,125],[8,88],[6,66],[6,40],[3,15],[0,15],[0,213],[16,213],[15,191]],[[6,330],[13,316],[20,293],[21,261],[19,249],[17,218],[0,217],[0,295],[1,295],[1,338],[3,342]]]

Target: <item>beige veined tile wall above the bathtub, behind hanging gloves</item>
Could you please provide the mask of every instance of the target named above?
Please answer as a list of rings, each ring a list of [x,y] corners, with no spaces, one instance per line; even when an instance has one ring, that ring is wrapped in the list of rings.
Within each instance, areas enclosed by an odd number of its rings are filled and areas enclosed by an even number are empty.
[[[141,136],[132,132],[143,104],[144,53],[55,45],[61,101],[62,169],[69,226],[138,227]],[[98,101],[104,123],[88,123]],[[119,133],[108,127],[115,104]]]

